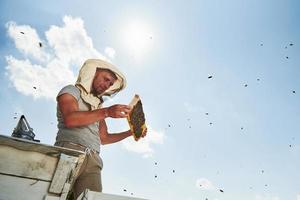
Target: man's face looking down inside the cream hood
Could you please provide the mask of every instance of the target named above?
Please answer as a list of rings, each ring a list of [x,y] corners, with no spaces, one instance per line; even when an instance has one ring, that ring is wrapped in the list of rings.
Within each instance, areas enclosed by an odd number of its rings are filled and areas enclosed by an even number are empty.
[[[102,94],[112,86],[115,81],[116,78],[112,72],[107,70],[97,70],[92,84],[92,92],[95,95]]]

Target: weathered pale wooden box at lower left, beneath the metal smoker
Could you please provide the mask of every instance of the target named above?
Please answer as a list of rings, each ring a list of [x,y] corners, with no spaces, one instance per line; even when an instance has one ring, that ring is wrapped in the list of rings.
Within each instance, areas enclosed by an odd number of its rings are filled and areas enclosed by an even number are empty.
[[[0,135],[0,200],[66,199],[84,156]]]

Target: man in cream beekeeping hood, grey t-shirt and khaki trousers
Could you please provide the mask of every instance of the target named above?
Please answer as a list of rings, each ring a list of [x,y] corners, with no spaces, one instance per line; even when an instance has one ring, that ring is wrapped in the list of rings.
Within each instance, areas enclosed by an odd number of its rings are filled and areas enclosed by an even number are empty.
[[[103,96],[115,95],[125,86],[126,79],[115,66],[100,59],[89,59],[80,69],[76,84],[64,87],[57,95],[59,130],[55,145],[86,152],[73,186],[75,199],[86,188],[102,191],[100,144],[115,143],[132,135],[130,130],[108,133],[104,120],[127,117],[129,106],[102,107]]]

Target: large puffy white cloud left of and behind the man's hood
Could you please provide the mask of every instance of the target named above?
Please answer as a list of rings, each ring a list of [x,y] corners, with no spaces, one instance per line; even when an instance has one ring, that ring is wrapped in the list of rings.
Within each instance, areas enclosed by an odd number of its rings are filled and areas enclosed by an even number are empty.
[[[15,22],[6,24],[9,36],[24,56],[6,56],[6,74],[20,93],[54,99],[59,89],[75,82],[73,70],[77,74],[86,59],[107,60],[93,47],[82,19],[64,16],[63,22],[62,26],[53,25],[45,32],[47,41],[42,47],[38,45],[41,40],[35,29]]]

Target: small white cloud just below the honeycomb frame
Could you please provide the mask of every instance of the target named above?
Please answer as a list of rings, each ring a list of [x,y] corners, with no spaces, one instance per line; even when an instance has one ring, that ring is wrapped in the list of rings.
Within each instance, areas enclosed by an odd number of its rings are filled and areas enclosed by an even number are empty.
[[[154,150],[151,147],[152,144],[163,144],[164,139],[165,133],[163,131],[155,131],[151,127],[148,127],[146,137],[141,138],[138,142],[131,137],[124,140],[122,144],[128,151],[140,153],[144,157],[150,157],[154,153]]]

